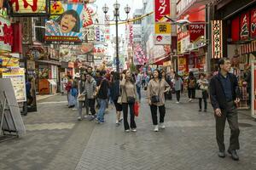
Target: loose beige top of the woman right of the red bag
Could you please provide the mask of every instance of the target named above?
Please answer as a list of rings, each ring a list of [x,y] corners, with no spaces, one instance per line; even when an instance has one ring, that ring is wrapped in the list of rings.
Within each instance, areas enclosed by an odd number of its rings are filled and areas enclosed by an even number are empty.
[[[151,99],[154,95],[159,95],[160,102],[154,103],[153,105],[165,105],[165,92],[170,90],[169,84],[166,82],[166,80],[161,79],[161,81],[155,81],[154,79],[150,80],[148,82],[148,99]]]

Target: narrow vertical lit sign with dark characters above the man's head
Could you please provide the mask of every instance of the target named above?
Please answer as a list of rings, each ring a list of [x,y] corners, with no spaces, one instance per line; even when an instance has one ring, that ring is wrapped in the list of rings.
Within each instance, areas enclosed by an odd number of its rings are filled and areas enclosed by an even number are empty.
[[[223,58],[222,20],[212,20],[212,59]]]

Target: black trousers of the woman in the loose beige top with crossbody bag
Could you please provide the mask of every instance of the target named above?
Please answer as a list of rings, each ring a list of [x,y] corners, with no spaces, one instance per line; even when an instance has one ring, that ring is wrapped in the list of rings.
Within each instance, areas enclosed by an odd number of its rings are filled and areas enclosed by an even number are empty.
[[[150,111],[151,111],[151,116],[152,116],[152,121],[154,125],[158,125],[157,121],[157,107],[159,108],[160,112],[160,123],[165,122],[165,116],[166,116],[166,107],[165,105],[150,105]]]

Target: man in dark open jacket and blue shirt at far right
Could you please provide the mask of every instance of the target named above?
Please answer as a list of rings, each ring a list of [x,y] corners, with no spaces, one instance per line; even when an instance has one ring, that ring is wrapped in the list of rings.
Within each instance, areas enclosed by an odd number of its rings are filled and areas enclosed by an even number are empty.
[[[230,59],[218,60],[218,74],[210,82],[210,96],[216,120],[216,139],[218,143],[218,156],[225,157],[224,127],[226,119],[230,125],[229,154],[235,161],[239,160],[236,150],[239,146],[239,127],[236,105],[240,102],[239,88],[236,76],[230,73]]]

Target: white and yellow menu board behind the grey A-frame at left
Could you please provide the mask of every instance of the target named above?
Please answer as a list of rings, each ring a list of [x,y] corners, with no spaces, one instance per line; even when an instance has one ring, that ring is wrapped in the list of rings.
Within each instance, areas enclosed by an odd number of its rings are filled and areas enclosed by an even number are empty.
[[[18,102],[26,101],[25,71],[23,68],[5,69],[2,71],[3,78],[10,78],[15,90]]]

